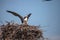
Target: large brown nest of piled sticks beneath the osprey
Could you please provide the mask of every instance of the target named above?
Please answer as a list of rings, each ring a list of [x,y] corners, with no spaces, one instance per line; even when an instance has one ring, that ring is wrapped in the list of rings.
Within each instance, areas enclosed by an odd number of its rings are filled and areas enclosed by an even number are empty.
[[[8,23],[1,25],[0,40],[38,40],[43,33],[38,26]]]

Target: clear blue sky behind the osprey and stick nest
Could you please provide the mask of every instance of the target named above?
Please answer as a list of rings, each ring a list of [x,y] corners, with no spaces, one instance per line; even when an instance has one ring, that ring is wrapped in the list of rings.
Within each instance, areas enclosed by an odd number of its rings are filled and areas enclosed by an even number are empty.
[[[22,16],[32,13],[28,21],[30,25],[41,25],[45,37],[60,37],[60,0],[0,0],[0,25],[6,20],[21,23],[6,10]]]

